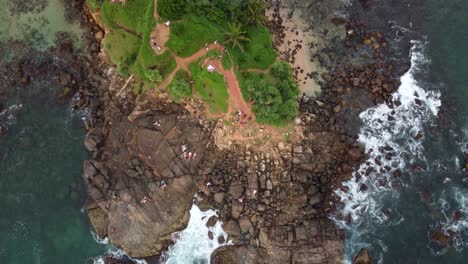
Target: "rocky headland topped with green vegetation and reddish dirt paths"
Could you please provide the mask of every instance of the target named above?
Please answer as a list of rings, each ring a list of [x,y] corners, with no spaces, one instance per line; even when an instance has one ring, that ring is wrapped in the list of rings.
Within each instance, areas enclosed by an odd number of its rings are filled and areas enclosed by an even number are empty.
[[[212,263],[340,263],[344,236],[329,219],[332,192],[363,157],[347,122],[399,85],[383,36],[334,14],[316,16],[338,3],[313,11],[294,1],[245,1],[249,17],[232,19],[248,22],[229,23],[224,36],[217,31],[224,22],[195,18],[178,1],[87,4],[97,57],[109,65],[101,66],[106,95],[93,112],[83,175],[99,236],[131,257],[158,256],[195,202],[219,210],[214,221],[232,241]],[[137,9],[144,21],[132,21]],[[311,12],[316,28],[307,26]],[[327,50],[353,47],[370,49],[376,62],[333,67],[342,59]],[[262,89],[282,105],[264,102]],[[134,107],[122,111],[122,101]]]

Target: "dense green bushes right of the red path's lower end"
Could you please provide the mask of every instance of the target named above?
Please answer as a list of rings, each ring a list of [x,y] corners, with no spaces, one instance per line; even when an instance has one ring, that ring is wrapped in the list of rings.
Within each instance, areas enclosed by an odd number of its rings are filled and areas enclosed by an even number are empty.
[[[289,64],[276,62],[268,75],[245,72],[241,76],[242,94],[254,103],[258,122],[283,125],[296,116],[299,88]]]

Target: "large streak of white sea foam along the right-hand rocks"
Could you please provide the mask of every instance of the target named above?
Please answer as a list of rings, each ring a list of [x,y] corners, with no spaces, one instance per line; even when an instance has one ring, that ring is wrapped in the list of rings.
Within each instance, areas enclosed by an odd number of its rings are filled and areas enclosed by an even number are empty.
[[[392,192],[395,180],[392,174],[404,171],[415,161],[425,161],[422,141],[415,137],[437,115],[441,101],[438,92],[425,91],[415,80],[421,66],[428,63],[423,49],[423,43],[413,42],[411,68],[401,77],[401,85],[392,95],[394,106],[381,104],[360,115],[363,126],[358,140],[364,145],[368,159],[343,183],[347,191],[335,191],[344,206],[339,213],[353,222],[362,221],[363,214],[378,223],[385,221],[381,199],[384,193],[398,195]],[[360,191],[363,184],[367,191]],[[335,221],[347,227],[342,217]]]

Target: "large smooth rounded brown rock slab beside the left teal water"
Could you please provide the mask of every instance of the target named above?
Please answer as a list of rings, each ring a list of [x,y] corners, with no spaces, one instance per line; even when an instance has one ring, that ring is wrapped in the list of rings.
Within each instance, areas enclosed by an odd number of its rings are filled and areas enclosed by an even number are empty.
[[[132,257],[146,257],[186,226],[210,130],[170,103],[146,102],[129,119],[112,120],[105,141],[99,128],[88,133],[85,145],[95,158],[84,162],[83,177],[97,233]]]

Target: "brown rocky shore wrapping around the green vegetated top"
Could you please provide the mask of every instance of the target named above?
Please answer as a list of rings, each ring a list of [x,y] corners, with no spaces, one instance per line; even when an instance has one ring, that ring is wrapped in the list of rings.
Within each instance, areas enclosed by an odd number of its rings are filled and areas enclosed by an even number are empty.
[[[358,114],[374,104],[398,103],[389,98],[404,71],[386,60],[388,42],[381,33],[357,21],[321,17],[327,28],[334,24],[345,34],[339,45],[346,58],[368,57],[351,63],[318,45],[312,60],[327,70],[308,78],[321,92],[298,99],[292,140],[234,140],[226,147],[216,140],[229,134],[223,120],[194,114],[191,103],[176,104],[164,95],[136,102],[130,89],[122,90],[125,80],[101,51],[105,30],[84,1],[71,7],[90,30],[83,54],[75,54],[64,35],[43,64],[25,59],[1,76],[27,86],[32,76],[43,75],[60,85],[58,98],[76,93],[75,107],[90,110],[84,145],[91,158],[83,164],[83,178],[90,194],[86,211],[100,237],[153,263],[173,242],[171,234],[187,225],[197,195],[200,208],[219,209],[213,221],[224,223],[234,243],[216,250],[212,263],[341,263],[344,234],[328,218],[340,206],[333,190],[363,160],[355,140]],[[285,30],[281,23],[271,29],[277,36]],[[56,57],[59,64],[52,63]]]

